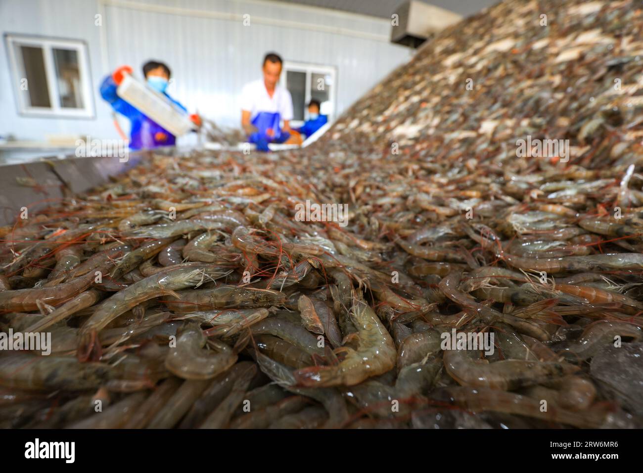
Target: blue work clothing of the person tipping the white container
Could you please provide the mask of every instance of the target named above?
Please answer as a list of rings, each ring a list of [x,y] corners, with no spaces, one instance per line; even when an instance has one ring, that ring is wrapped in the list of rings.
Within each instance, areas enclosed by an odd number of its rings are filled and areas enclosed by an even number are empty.
[[[130,149],[149,149],[159,146],[174,146],[176,144],[176,136],[167,131],[158,123],[154,122],[151,118],[141,113],[136,107],[131,106],[122,98],[116,95],[118,85],[114,82],[111,75],[105,77],[105,80],[100,86],[100,95],[111,104],[112,108],[121,115],[127,116],[131,122],[130,130]],[[187,109],[179,104],[174,98],[163,92],[172,103],[176,104],[179,108],[187,113]],[[167,138],[163,141],[156,140],[156,133],[163,133]]]

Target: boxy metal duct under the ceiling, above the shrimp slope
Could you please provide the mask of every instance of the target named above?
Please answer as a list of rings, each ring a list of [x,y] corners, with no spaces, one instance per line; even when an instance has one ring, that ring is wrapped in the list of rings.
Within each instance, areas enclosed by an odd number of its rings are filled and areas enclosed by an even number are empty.
[[[397,16],[396,16],[397,15]],[[419,0],[408,0],[392,16],[391,42],[417,48],[433,33],[458,23],[462,15]]]

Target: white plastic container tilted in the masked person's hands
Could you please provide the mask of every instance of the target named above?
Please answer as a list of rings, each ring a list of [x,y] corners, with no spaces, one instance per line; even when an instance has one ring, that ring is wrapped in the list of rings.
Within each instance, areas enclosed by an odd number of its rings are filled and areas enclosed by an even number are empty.
[[[149,88],[128,73],[123,73],[123,80],[118,85],[116,94],[174,136],[186,134],[194,127],[185,111],[170,102],[165,95]]]

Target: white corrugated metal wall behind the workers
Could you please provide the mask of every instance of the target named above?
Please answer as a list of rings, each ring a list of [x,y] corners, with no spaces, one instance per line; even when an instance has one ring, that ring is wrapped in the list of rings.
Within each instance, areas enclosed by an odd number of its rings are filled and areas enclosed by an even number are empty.
[[[104,15],[102,26],[94,24],[97,13]],[[173,70],[168,92],[228,126],[239,124],[241,88],[260,77],[268,50],[285,60],[335,66],[339,113],[412,54],[388,43],[386,20],[258,0],[2,0],[0,30],[84,39],[95,89],[116,66],[131,64],[140,74],[145,60],[162,59]],[[93,120],[18,116],[4,43],[0,52],[2,134],[116,138],[111,109],[97,92]]]

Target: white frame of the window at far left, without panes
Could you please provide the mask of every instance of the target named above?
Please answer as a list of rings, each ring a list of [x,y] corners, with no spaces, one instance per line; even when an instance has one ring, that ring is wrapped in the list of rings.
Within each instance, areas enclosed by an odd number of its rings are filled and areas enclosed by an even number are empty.
[[[15,97],[19,114],[65,118],[93,118],[95,116],[94,96],[91,88],[91,73],[89,70],[89,54],[87,53],[87,44],[85,41],[19,35],[14,33],[6,33],[5,38],[8,57],[11,64],[12,80],[15,84]],[[44,68],[47,77],[47,87],[51,107],[32,107],[28,97],[29,92],[23,91],[20,88],[21,79],[26,77],[26,73],[24,72],[24,61],[19,50],[20,46],[35,46],[37,48],[42,48],[42,57],[44,59]],[[55,48],[77,51],[78,72],[80,74],[80,92],[82,93],[84,105],[82,108],[67,108],[60,106],[58,78],[52,51]]]

